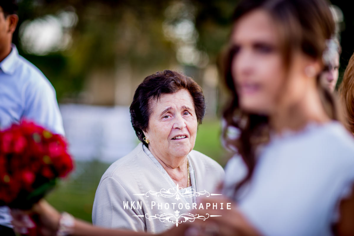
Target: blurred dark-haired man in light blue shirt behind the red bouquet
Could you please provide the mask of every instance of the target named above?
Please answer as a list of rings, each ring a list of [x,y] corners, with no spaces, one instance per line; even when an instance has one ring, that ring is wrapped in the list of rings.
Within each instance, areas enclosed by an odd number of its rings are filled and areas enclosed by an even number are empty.
[[[45,75],[19,56],[12,34],[18,23],[15,0],[0,1],[0,129],[23,119],[64,135],[56,93]],[[15,235],[7,207],[0,207],[0,235]]]

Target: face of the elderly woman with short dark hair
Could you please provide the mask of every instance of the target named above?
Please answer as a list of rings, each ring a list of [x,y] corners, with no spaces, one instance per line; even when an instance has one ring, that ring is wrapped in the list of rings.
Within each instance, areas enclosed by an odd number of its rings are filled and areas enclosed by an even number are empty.
[[[184,157],[194,147],[198,121],[187,90],[161,94],[149,103],[151,115],[144,132],[149,149],[160,158]]]

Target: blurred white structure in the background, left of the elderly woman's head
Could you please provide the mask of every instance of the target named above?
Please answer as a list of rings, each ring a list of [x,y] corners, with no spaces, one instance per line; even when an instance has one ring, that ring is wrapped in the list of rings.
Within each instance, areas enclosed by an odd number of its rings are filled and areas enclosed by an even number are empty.
[[[75,160],[112,163],[138,143],[129,107],[60,104],[59,108],[69,151]]]

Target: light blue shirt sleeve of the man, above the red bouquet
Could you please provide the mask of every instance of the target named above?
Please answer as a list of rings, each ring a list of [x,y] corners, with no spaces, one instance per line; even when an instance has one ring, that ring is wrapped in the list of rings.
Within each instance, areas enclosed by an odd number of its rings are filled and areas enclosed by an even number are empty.
[[[65,135],[55,90],[45,80],[26,88],[22,119],[34,121],[53,133]]]

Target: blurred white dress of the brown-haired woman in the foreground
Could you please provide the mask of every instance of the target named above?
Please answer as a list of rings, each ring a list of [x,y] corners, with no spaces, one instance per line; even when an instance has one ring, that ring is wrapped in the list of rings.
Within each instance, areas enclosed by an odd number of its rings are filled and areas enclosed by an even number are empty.
[[[310,123],[273,136],[252,180],[235,196],[247,173],[240,157],[225,167],[224,194],[265,236],[330,236],[338,203],[354,184],[354,139],[338,122]]]

